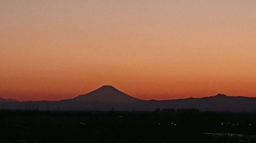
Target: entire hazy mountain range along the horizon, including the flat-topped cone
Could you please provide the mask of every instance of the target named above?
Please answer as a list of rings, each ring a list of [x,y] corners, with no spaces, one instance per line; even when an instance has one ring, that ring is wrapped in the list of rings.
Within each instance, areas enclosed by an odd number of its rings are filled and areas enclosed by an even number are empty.
[[[99,111],[154,111],[155,109],[188,109],[214,112],[256,112],[256,98],[243,96],[216,96],[176,100],[140,100],[112,86],[60,101],[24,101],[0,98],[0,109],[22,110],[99,110]]]

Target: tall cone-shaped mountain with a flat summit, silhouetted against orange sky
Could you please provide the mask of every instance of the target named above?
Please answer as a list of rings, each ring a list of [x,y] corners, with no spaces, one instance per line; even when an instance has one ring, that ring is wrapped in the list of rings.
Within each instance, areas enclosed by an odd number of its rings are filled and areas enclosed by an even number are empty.
[[[132,103],[140,101],[140,99],[131,97],[117,90],[113,86],[102,86],[101,88],[87,94],[79,95],[72,100],[104,103]]]

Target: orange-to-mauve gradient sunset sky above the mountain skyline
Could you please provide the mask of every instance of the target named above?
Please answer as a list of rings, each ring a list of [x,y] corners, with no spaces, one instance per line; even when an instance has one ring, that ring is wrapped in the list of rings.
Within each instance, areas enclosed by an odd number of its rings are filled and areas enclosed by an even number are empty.
[[[140,99],[256,96],[256,1],[0,1],[0,97],[102,85]]]

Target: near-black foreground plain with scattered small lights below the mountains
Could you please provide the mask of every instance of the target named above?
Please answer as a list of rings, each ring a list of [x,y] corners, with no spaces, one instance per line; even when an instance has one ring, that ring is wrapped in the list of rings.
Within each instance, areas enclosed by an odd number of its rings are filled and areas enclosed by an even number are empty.
[[[0,143],[256,142],[253,135],[254,113],[0,110]]]

